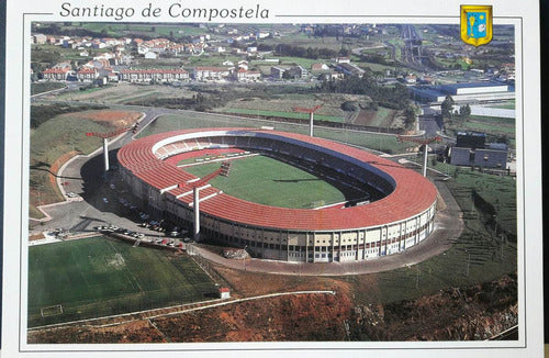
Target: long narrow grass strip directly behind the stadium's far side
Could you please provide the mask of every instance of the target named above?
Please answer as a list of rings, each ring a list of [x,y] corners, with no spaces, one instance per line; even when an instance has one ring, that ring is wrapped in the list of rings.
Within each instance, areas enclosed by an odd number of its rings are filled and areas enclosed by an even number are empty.
[[[259,127],[261,125],[272,125],[277,131],[294,132],[301,134],[309,133],[307,125],[296,125],[291,123],[277,123],[277,122],[259,122],[249,119],[237,119],[223,115],[212,115],[200,112],[188,112],[184,115],[163,115],[155,122],[148,125],[139,133],[139,137],[144,137],[155,133],[163,133],[168,131],[187,130],[187,128],[206,128],[214,126],[223,127]],[[385,153],[405,153],[406,148],[413,145],[407,142],[397,142],[395,136],[366,133],[366,132],[351,132],[336,128],[322,128],[314,130],[315,136],[344,142],[352,145],[358,145],[366,148],[372,148]]]

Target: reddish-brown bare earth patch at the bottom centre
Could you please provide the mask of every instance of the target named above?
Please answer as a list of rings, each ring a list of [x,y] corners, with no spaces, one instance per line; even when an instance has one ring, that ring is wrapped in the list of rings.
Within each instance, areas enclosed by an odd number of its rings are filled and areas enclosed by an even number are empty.
[[[344,340],[350,301],[300,294],[231,304],[155,320],[172,342]]]

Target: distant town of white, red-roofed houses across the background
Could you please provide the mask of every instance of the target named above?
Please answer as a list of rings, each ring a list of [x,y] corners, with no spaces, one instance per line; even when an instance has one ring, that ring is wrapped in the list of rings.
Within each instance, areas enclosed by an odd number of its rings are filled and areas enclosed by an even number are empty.
[[[503,61],[501,64],[483,64],[481,67],[472,66],[473,60],[467,53],[444,54],[430,51],[430,56],[440,56],[445,60],[457,59],[463,68],[448,68],[446,70],[429,70],[427,66],[419,65],[417,58],[426,57],[425,54],[414,55],[414,52],[422,51],[425,45],[414,45],[414,40],[404,38],[406,46],[410,45],[412,57],[405,58],[405,48],[394,51],[389,54],[391,46],[385,48],[384,53],[378,49],[383,48],[383,43],[374,43],[372,46],[376,52],[368,53],[368,48],[327,51],[315,48],[316,54],[311,54],[312,47],[303,48],[292,45],[266,45],[268,41],[282,38],[285,36],[280,31],[256,31],[244,32],[228,25],[205,26],[197,25],[200,34],[184,36],[187,41],[173,41],[166,37],[144,40],[137,36],[121,37],[93,37],[93,36],[69,36],[61,34],[41,33],[40,24],[33,27],[35,32],[32,35],[34,46],[55,46],[49,48],[59,48],[71,51],[70,60],[64,59],[47,66],[37,66],[33,64],[33,80],[48,81],[79,81],[93,82],[97,85],[115,83],[119,81],[134,83],[171,83],[180,85],[189,81],[306,81],[315,82],[323,80],[339,80],[347,77],[361,78],[368,66],[360,61],[355,61],[352,55],[362,56],[362,61],[370,59],[378,64],[388,64],[399,61],[397,54],[401,53],[402,60],[408,65],[408,68],[385,68],[377,79],[380,83],[391,85],[401,82],[413,87],[413,93],[416,99],[429,102],[441,102],[451,90],[444,87],[433,87],[441,83],[447,78],[462,76],[464,81],[491,81],[500,86],[494,86],[492,90],[482,92],[496,92],[493,99],[512,99],[509,88],[515,79],[514,64]],[[47,29],[51,30],[52,26]],[[338,25],[333,29],[322,29],[324,32],[336,32],[341,34],[341,38],[348,36],[370,36],[390,37],[388,26],[376,25]],[[315,25],[301,25],[298,33],[302,36],[314,36],[320,31]],[[184,31],[184,30],[181,30]],[[195,32],[195,31],[193,31]],[[323,35],[325,36],[325,35]],[[413,34],[412,36],[416,36]],[[176,37],[173,31],[171,36]],[[412,37],[413,38],[413,37]],[[421,41],[416,41],[421,42]],[[391,45],[388,40],[385,45]],[[393,45],[394,46],[394,45]],[[37,47],[40,48],[40,47]],[[363,49],[360,53],[360,49]],[[343,56],[345,54],[347,56]],[[280,56],[279,56],[280,55]],[[309,66],[300,64],[290,64],[284,61],[285,56],[302,57],[307,59],[318,58],[317,61],[307,60]],[[334,55],[333,57],[326,55]],[[395,57],[396,56],[396,57]],[[354,56],[356,57],[356,56]],[[395,57],[391,60],[391,57]],[[192,58],[192,65],[176,64],[175,60]],[[161,61],[163,59],[171,59]],[[204,59],[204,60],[203,60]],[[217,59],[217,60],[214,60]],[[425,63],[425,61],[423,61]],[[441,61],[442,63],[442,61]],[[159,66],[158,64],[161,64]],[[171,65],[171,66],[170,66]],[[416,66],[414,66],[416,65]],[[385,66],[386,67],[386,66]],[[399,66],[400,67],[400,66]],[[467,70],[463,70],[467,68]],[[470,86],[474,87],[474,86]],[[477,92],[471,90],[470,94]],[[445,94],[446,93],[446,94]],[[467,99],[467,98],[463,98]]]

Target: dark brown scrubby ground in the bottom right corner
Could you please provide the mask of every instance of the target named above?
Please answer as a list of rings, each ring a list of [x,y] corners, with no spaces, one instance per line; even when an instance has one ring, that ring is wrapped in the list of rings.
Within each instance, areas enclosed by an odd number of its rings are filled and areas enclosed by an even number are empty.
[[[516,277],[355,307],[355,339],[479,340],[518,323]]]

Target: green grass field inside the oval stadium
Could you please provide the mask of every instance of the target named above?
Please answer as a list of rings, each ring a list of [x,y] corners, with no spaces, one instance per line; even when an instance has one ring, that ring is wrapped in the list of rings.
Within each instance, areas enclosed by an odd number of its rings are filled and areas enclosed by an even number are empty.
[[[345,194],[323,179],[266,156],[231,161],[231,175],[211,184],[224,193],[259,204],[310,209],[345,201]],[[186,167],[198,177],[216,170],[220,163]]]

